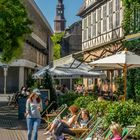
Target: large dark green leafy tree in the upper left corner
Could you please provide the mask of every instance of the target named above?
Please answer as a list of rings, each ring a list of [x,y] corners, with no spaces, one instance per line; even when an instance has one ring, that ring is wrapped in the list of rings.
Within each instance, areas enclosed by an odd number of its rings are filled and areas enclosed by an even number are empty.
[[[22,0],[0,0],[1,61],[8,63],[20,56],[31,23]]]

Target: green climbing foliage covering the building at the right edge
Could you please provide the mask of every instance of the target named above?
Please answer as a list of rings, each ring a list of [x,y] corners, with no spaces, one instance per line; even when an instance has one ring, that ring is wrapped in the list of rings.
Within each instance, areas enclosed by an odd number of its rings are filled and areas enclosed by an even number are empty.
[[[123,29],[124,34],[135,34],[140,32],[140,0],[122,0],[124,7]],[[140,55],[140,39],[125,41],[124,47]],[[140,70],[128,70],[127,74],[127,92],[129,98],[136,99],[140,90]]]

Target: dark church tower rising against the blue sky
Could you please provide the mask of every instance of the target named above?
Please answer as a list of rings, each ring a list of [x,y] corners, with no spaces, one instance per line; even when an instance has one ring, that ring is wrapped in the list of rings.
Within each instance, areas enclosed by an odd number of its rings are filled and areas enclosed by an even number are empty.
[[[54,31],[55,33],[60,33],[65,30],[66,20],[64,17],[64,4],[63,0],[58,0],[56,6],[56,17],[54,20]]]

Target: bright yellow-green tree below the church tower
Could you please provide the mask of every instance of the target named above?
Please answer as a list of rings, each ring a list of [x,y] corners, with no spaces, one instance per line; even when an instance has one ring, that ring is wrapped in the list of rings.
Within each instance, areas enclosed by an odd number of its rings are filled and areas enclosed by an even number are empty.
[[[55,33],[51,38],[54,44],[54,55],[53,55],[54,60],[59,59],[61,57],[61,40],[63,36],[64,32]]]

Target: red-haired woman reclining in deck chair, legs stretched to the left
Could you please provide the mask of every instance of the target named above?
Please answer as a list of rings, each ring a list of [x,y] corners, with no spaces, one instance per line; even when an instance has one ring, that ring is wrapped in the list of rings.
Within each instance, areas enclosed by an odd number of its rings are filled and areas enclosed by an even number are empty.
[[[50,129],[44,133],[46,135],[51,135],[52,132],[56,137],[62,135],[62,133],[69,134],[75,136],[75,133],[72,132],[69,128],[72,128],[75,124],[78,108],[74,105],[69,107],[69,111],[71,113],[71,117],[67,120],[59,120],[55,119],[50,127]]]

